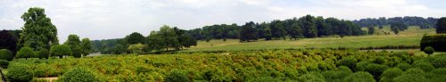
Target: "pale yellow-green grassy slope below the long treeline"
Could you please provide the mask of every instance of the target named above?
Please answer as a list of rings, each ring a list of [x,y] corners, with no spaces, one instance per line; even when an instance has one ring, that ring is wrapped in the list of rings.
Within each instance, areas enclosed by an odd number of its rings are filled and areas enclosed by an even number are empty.
[[[317,37],[304,38],[301,40],[273,40],[250,43],[239,43],[238,39],[228,39],[226,42],[222,40],[211,40],[207,43],[199,41],[198,45],[185,52],[195,51],[216,51],[216,50],[252,50],[252,49],[284,49],[284,48],[305,48],[305,47],[368,47],[368,46],[385,46],[385,45],[419,45],[419,40],[425,33],[434,33],[435,29],[419,29],[418,27],[409,27],[408,30],[402,31],[399,35],[383,35],[383,31],[392,31],[388,27],[384,29],[376,29],[373,36],[359,37]],[[381,35],[378,35],[381,34]],[[211,47],[212,45],[212,47]]]

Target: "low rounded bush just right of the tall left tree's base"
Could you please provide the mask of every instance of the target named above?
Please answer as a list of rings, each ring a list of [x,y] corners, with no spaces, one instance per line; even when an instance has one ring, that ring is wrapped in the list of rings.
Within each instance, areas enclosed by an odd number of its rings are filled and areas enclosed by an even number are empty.
[[[50,49],[51,56],[58,56],[62,58],[63,55],[71,55],[71,48],[69,45],[53,45]]]

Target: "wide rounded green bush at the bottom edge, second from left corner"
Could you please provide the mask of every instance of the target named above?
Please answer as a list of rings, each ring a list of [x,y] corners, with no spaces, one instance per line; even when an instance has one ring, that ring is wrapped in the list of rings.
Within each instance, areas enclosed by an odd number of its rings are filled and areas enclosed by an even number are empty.
[[[75,68],[70,70],[62,75],[59,78],[59,81],[62,82],[96,82],[98,79],[95,77],[95,74],[84,68]]]

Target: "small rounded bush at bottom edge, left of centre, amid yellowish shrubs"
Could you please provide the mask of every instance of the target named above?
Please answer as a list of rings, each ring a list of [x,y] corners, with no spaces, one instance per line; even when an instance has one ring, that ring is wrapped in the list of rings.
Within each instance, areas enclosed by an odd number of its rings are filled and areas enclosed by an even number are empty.
[[[169,75],[166,76],[165,82],[189,82],[189,78],[186,74],[179,70],[170,71]]]

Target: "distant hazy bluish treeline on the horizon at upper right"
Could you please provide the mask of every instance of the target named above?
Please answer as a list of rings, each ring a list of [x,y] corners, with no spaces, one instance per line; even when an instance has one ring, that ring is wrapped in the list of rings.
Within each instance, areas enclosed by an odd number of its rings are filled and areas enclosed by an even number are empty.
[[[419,26],[421,29],[432,29],[435,28],[435,24],[437,23],[438,18],[428,17],[417,17],[417,16],[404,16],[404,17],[393,17],[393,18],[366,18],[353,21],[358,24],[360,27],[370,27],[370,26],[378,26],[379,29],[383,29],[385,25],[390,25],[394,22],[403,22],[408,26]]]

